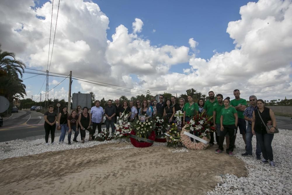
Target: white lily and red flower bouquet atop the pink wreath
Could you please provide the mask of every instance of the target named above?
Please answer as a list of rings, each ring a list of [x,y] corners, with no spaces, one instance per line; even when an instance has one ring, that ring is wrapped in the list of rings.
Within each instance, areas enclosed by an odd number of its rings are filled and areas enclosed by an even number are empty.
[[[187,122],[188,126],[185,128],[199,138],[206,137],[210,139],[210,133],[214,132],[215,128],[211,126],[211,119],[213,116],[207,117],[205,112],[196,114],[194,117]]]

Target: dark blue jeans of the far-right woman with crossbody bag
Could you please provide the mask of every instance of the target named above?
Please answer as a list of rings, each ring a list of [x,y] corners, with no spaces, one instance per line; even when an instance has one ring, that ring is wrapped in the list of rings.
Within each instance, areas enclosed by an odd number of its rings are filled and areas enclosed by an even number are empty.
[[[262,149],[263,157],[266,160],[273,161],[273,149],[272,149],[272,140],[274,138],[274,134],[261,134],[256,132],[256,139],[260,144],[260,148]]]

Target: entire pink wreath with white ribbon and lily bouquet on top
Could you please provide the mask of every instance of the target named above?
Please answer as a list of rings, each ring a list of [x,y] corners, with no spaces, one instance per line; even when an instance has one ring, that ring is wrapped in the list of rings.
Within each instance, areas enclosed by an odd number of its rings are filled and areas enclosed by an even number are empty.
[[[182,142],[182,144],[189,149],[206,149],[209,146],[210,133],[214,132],[214,127],[211,126],[212,118],[213,116],[207,117],[205,112],[195,115],[190,120],[190,122],[187,122],[187,124],[180,132],[180,141]],[[193,134],[201,141],[192,141],[188,135],[184,134],[184,132]]]

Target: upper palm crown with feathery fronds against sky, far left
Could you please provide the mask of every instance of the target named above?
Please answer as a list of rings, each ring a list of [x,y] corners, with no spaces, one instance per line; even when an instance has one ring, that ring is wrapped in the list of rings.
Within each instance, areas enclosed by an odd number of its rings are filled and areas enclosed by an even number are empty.
[[[13,59],[8,58],[11,56]],[[23,76],[25,63],[20,60],[15,60],[15,54],[8,51],[1,50],[0,44],[0,75],[6,75],[8,71],[15,74],[19,73],[20,78]]]

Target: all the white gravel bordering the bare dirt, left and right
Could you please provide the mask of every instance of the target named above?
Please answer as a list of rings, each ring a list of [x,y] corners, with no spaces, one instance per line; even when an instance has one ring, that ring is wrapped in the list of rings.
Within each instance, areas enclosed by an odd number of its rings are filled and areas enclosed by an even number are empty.
[[[79,137],[78,137],[79,138]],[[50,142],[49,138],[49,142]],[[65,140],[67,139],[67,136]],[[13,140],[0,142],[0,160],[18,156],[28,156],[48,151],[60,151],[68,149],[78,149],[91,147],[99,144],[117,143],[119,140],[111,141],[86,141],[81,144],[72,141],[72,145],[58,144],[59,137],[55,137],[56,143],[46,146],[44,139],[34,141]],[[88,140],[88,134],[85,138]],[[244,161],[248,170],[247,177],[238,178],[235,175],[220,175],[223,182],[218,183],[213,191],[206,194],[292,194],[292,131],[281,130],[280,133],[274,135],[272,141],[275,168],[271,168],[269,164],[262,164],[256,160],[255,147],[256,138],[253,137],[253,157],[242,157],[244,153],[244,141],[240,134],[236,139],[236,149],[234,157]],[[117,149],[131,149],[134,146],[128,141],[128,146]],[[154,142],[153,146],[163,146],[166,143]],[[169,149],[169,152],[188,152],[185,148]],[[214,153],[215,154],[215,153]],[[222,153],[221,155],[225,155]],[[227,154],[226,154],[227,155]],[[231,167],[232,169],[232,167]]]

